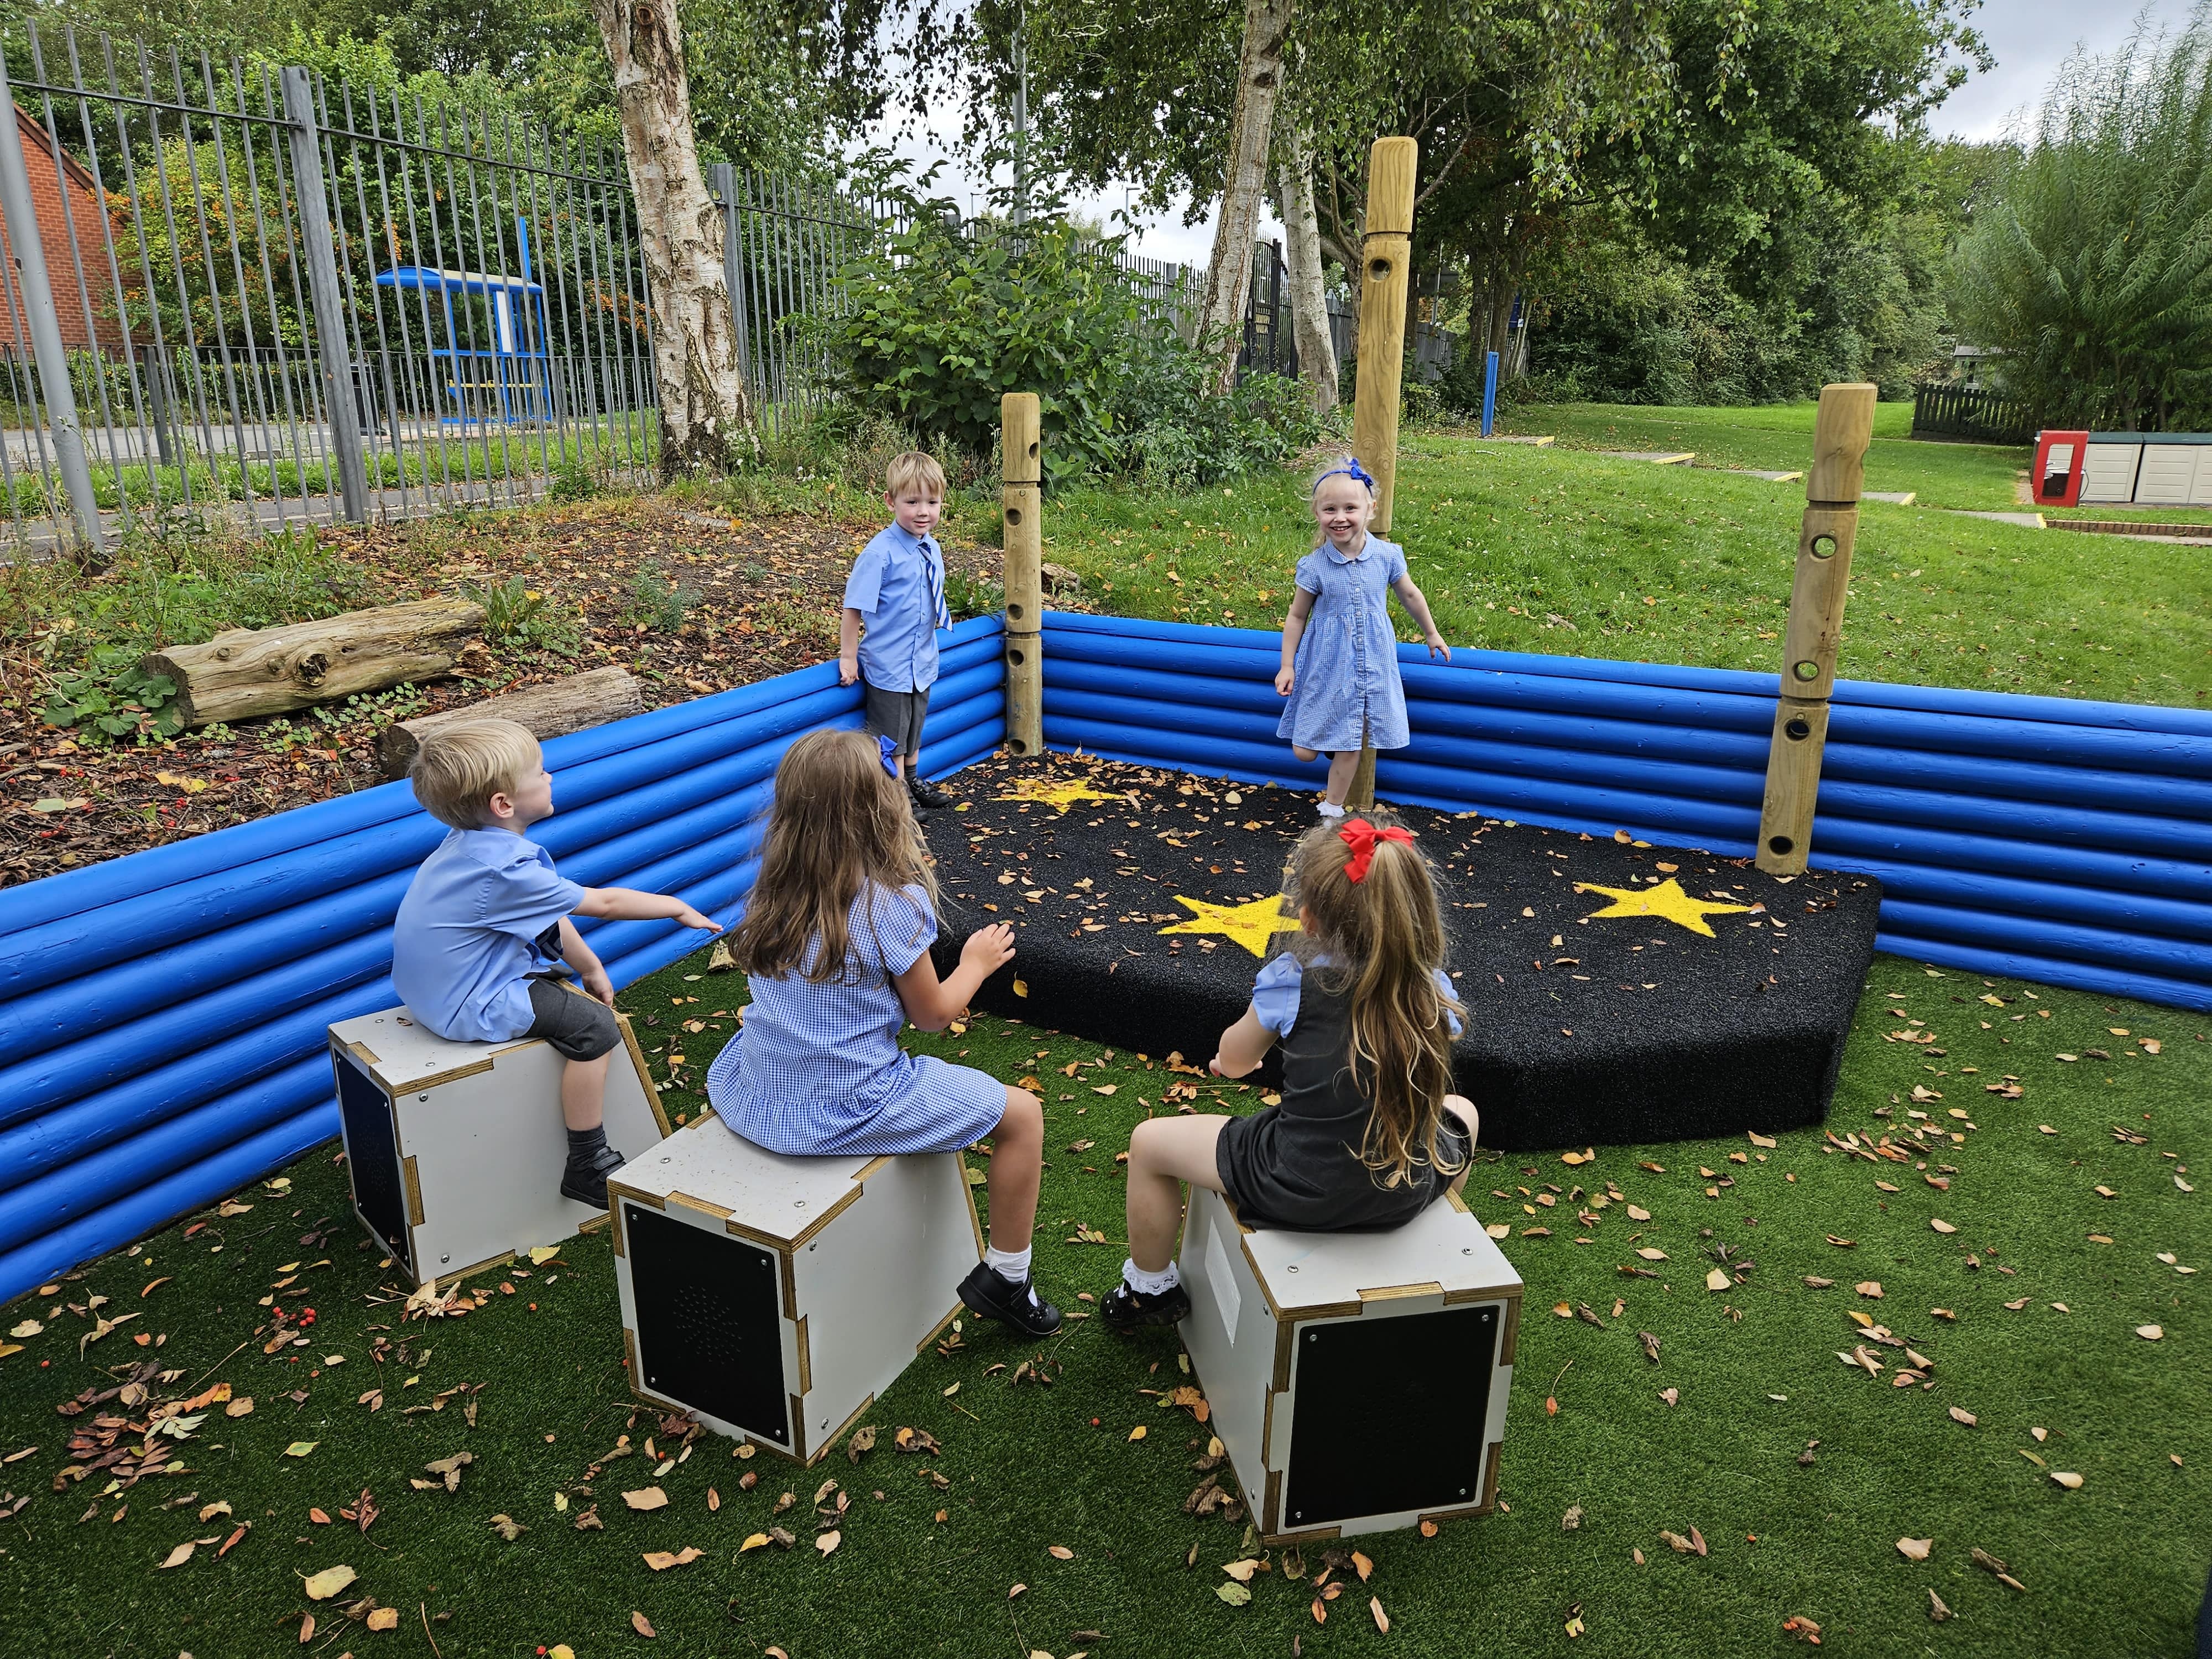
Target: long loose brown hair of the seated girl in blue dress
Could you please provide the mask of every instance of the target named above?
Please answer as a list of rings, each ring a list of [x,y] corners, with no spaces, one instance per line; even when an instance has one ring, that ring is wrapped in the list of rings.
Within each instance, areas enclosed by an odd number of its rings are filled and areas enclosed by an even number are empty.
[[[807,732],[776,765],[761,874],[745,920],[730,931],[732,960],[768,978],[799,971],[812,984],[845,980],[845,918],[867,883],[920,887],[936,914],[929,847],[905,783],[883,768],[883,748],[865,732]],[[880,960],[883,942],[869,942]]]

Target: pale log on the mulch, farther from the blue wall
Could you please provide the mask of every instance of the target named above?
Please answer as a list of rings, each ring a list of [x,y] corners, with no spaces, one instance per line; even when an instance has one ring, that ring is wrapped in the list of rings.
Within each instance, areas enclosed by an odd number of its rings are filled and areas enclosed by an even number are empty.
[[[416,599],[281,628],[234,628],[204,646],[155,650],[144,668],[177,681],[186,726],[212,726],[449,675],[482,626],[480,604]]]

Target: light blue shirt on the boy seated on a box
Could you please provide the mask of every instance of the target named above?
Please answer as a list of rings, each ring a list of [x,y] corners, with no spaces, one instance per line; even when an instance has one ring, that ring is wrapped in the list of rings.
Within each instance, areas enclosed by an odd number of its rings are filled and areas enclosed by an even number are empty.
[[[400,900],[392,989],[440,1037],[513,1042],[533,1020],[526,975],[560,962],[542,936],[582,902],[529,836],[451,830]]]

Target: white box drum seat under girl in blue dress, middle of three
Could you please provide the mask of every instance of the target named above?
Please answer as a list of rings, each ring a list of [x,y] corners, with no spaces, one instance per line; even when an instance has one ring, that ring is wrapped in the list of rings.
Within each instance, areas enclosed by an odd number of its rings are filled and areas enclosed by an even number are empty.
[[[958,1152],[781,1157],[708,1113],[606,1192],[630,1387],[799,1462],[841,1444],[982,1261]]]

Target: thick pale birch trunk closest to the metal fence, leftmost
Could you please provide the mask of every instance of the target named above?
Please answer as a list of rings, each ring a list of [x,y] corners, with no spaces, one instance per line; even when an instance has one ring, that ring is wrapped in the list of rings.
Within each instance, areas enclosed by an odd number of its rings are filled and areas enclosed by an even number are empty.
[[[622,150],[653,288],[661,478],[728,471],[752,411],[721,263],[721,208],[699,173],[675,0],[591,0],[615,69]]]

